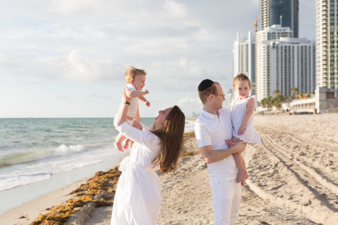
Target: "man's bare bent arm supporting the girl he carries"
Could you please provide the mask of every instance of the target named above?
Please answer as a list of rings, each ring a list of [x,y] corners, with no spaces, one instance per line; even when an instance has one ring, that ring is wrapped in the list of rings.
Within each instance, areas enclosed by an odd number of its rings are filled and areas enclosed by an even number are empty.
[[[200,147],[199,151],[206,163],[213,163],[220,161],[234,153],[242,153],[245,150],[245,144],[243,141],[237,142],[237,144],[231,148],[225,150],[212,150],[211,145]]]

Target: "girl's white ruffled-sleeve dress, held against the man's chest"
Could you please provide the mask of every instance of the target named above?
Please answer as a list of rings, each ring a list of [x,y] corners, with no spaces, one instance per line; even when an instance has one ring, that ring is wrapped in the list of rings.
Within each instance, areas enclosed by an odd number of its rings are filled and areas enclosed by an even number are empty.
[[[255,95],[248,96],[245,99],[237,99],[233,101],[230,105],[231,108],[231,121],[233,126],[233,136],[236,138],[239,138],[245,142],[257,144],[261,142],[261,138],[257,134],[257,131],[255,129],[255,125],[253,123],[253,113],[248,121],[248,124],[245,128],[243,135],[238,135],[238,129],[242,125],[242,121],[244,118],[245,111],[247,109],[247,102],[249,99],[253,98],[254,101],[254,110],[257,108],[257,97]]]

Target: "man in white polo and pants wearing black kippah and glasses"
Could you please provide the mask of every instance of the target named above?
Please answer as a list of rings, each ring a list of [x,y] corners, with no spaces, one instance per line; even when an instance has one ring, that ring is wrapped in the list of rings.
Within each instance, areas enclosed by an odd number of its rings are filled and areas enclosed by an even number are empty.
[[[238,171],[232,154],[243,152],[246,144],[231,140],[230,110],[222,108],[225,98],[220,84],[203,80],[198,86],[198,95],[203,110],[195,123],[195,135],[201,155],[208,164],[213,191],[213,224],[234,225],[238,219],[242,187],[237,182]]]

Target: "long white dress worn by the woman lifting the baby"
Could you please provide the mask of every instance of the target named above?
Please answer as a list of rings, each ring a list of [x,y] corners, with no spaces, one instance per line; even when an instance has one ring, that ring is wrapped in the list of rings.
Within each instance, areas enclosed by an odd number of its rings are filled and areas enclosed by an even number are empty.
[[[160,153],[160,138],[127,122],[117,130],[134,144],[130,156],[120,163],[122,173],[115,192],[110,225],[156,225],[161,204],[160,178],[155,172],[158,167],[154,168],[152,161]]]

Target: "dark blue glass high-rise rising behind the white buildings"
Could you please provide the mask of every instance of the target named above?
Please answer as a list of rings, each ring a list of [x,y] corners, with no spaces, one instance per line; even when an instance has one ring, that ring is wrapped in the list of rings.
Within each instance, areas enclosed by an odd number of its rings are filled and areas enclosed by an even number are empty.
[[[298,37],[299,0],[260,0],[260,30],[279,24]]]

